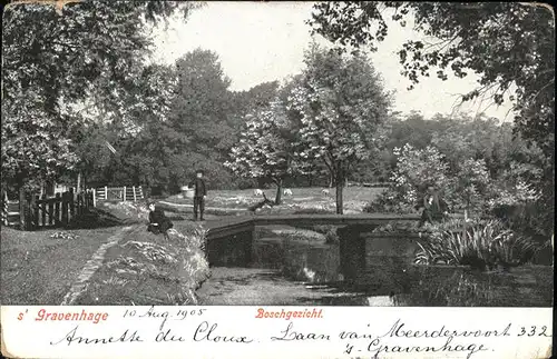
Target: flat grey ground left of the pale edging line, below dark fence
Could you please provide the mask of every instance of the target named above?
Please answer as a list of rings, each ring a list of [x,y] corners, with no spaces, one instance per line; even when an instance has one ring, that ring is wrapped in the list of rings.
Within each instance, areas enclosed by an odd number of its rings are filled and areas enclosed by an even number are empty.
[[[85,263],[120,229],[19,231],[2,227],[2,305],[59,306]]]

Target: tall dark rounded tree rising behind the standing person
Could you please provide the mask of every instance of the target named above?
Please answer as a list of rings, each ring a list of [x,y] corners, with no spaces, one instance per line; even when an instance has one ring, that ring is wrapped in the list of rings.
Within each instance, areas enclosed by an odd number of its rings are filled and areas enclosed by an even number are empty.
[[[183,137],[180,169],[193,176],[205,170],[214,187],[231,182],[226,160],[236,142],[231,123],[231,80],[218,56],[196,49],[176,60],[177,93],[169,114],[170,126]]]

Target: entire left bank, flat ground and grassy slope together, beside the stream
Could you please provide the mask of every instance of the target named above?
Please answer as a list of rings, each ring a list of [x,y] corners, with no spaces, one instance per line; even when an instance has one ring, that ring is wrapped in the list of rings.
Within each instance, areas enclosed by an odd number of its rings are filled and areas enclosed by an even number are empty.
[[[176,222],[170,239],[146,231],[143,203],[99,205],[89,229],[1,229],[2,305],[195,303],[209,275],[203,232]],[[102,218],[111,219],[110,227]]]

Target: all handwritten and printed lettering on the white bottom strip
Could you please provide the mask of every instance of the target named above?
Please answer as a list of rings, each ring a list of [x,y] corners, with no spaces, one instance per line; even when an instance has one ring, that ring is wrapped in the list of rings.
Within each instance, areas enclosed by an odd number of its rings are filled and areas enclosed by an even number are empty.
[[[257,338],[254,332],[257,330],[250,329],[250,326],[237,327],[224,326],[223,328],[217,321],[207,318],[207,308],[176,308],[166,310],[163,308],[150,307],[148,310],[126,309],[123,316],[127,318],[150,318],[158,321],[158,330],[156,333],[146,335],[144,328],[128,327],[128,329],[107,333],[101,336],[91,336],[87,333],[87,328],[81,326],[82,322],[99,323],[106,321],[107,312],[82,310],[67,310],[49,312],[39,310],[32,317],[36,321],[77,321],[76,326],[65,335],[55,335],[55,340],[50,341],[51,346],[66,343],[70,345],[108,345],[114,342],[221,342],[232,345],[248,345],[252,342],[270,341],[270,342],[323,342],[336,341],[341,347],[344,347],[343,353],[352,355],[354,352],[368,352],[373,358],[379,358],[384,355],[397,352],[453,352],[462,353],[465,358],[471,358],[473,355],[482,351],[492,351],[488,348],[489,342],[485,339],[505,338],[514,340],[519,337],[551,337],[551,329],[547,326],[524,327],[518,323],[507,322],[499,323],[497,328],[467,328],[451,329],[450,326],[436,326],[430,328],[428,323],[421,325],[419,328],[409,328],[403,319],[399,318],[387,327],[384,323],[379,326],[368,325],[362,328],[359,325],[341,323],[339,327],[316,326],[316,331],[312,329],[301,330],[294,321],[304,319],[323,318],[323,309],[304,309],[304,310],[270,310],[260,308],[255,313],[255,318],[262,319],[286,319],[284,326],[280,325],[274,335],[267,338]],[[27,312],[27,310],[26,310]],[[23,320],[25,313],[21,312],[18,317]],[[121,318],[121,317],[120,317]],[[164,328],[165,322],[172,319],[199,320],[194,326],[172,326]],[[198,319],[196,319],[198,318]],[[252,317],[254,318],[254,317]],[[158,320],[157,320],[158,319]],[[293,320],[291,320],[293,319]],[[226,320],[225,320],[226,321]],[[260,321],[257,321],[260,322]],[[281,323],[284,321],[280,321]],[[409,339],[421,339],[420,345],[412,342]]]

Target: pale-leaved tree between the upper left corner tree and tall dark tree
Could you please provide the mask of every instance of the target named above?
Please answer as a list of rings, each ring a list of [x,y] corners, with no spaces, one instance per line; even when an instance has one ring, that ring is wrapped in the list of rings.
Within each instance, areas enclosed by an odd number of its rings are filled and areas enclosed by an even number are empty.
[[[110,100],[96,102],[92,98],[82,103],[81,116],[88,120],[71,136],[82,174],[97,183],[168,182],[168,176],[155,172],[172,168],[168,156],[182,139],[168,126],[175,96],[174,67],[150,64],[125,87],[116,88]],[[106,142],[116,148],[116,153]]]

